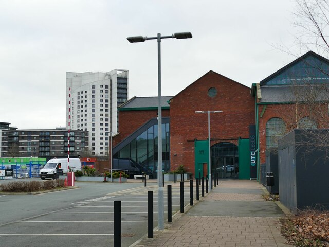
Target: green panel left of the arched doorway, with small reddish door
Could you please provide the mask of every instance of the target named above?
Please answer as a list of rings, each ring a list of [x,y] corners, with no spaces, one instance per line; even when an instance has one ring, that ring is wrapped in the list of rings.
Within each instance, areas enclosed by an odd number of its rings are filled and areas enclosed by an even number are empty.
[[[195,178],[208,175],[208,162],[209,162],[209,142],[208,140],[195,140],[194,142],[194,156],[195,156]],[[207,163],[207,174],[203,174],[203,164]]]

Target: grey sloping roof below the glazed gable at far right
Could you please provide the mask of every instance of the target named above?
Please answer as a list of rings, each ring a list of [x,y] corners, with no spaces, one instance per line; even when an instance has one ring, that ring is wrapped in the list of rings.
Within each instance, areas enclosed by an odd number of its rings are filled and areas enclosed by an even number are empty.
[[[312,92],[312,93],[310,93]],[[295,102],[312,99],[317,101],[328,101],[329,90],[327,85],[278,85],[261,86],[262,98],[260,102]]]

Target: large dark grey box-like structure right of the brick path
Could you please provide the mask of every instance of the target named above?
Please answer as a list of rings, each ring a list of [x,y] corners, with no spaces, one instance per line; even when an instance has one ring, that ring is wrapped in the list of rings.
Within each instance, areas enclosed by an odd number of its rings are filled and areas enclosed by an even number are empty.
[[[329,209],[329,131],[294,130],[279,140],[280,202],[298,209]]]

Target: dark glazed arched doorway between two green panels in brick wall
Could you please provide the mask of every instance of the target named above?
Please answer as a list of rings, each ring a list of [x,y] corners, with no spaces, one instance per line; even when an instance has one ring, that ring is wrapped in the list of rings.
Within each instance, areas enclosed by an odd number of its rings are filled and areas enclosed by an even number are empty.
[[[211,173],[220,179],[239,178],[239,153],[234,143],[216,143],[211,147]]]

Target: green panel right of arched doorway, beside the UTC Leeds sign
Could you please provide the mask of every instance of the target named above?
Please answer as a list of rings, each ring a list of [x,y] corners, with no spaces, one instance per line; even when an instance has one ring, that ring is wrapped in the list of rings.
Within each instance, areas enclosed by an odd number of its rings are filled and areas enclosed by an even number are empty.
[[[250,179],[249,139],[239,139],[239,179]]]

